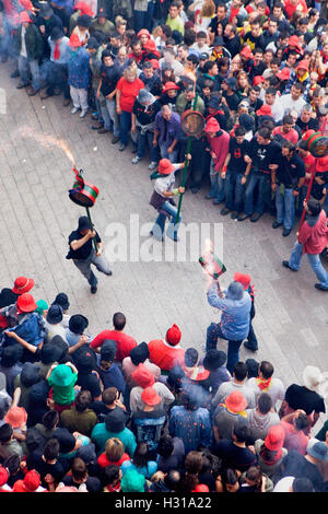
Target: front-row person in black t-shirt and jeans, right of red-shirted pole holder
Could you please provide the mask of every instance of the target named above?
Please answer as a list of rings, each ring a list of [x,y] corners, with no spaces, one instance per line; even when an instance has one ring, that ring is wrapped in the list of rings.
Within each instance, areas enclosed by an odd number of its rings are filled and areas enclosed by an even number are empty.
[[[249,141],[245,139],[245,135],[246,130],[243,127],[236,128],[235,136],[230,139],[229,153],[222,168],[225,174],[225,207],[221,210],[221,214],[226,215],[232,212],[233,220],[243,212],[245,186],[242,184],[242,178],[247,166],[244,157],[249,152]]]

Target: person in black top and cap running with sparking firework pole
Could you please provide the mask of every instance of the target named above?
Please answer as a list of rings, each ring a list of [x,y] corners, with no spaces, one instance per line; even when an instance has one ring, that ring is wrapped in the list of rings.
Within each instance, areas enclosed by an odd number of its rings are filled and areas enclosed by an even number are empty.
[[[97,250],[93,247],[93,240],[96,242]],[[69,235],[69,253],[67,259],[72,259],[77,268],[86,278],[91,285],[92,294],[97,292],[97,278],[91,269],[94,265],[98,271],[110,277],[109,264],[102,256],[103,244],[96,231],[91,227],[87,217],[79,218],[79,226]]]

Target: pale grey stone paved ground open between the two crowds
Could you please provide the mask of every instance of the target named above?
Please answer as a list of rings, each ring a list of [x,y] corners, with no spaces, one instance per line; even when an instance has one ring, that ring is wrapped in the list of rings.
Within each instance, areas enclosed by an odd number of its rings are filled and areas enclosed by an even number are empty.
[[[93,335],[110,327],[113,314],[121,311],[128,318],[127,331],[138,341],[164,336],[177,323],[183,346],[201,349],[207,326],[220,316],[207,304],[207,280],[196,261],[115,262],[112,278],[98,274],[98,293],[92,295],[86,281],[65,258],[68,234],[84,210],[68,197],[73,173],[59,145],[66,144],[77,166],[85,170],[85,178],[99,188],[92,217],[105,245],[110,222],[129,226],[130,214],[139,214],[140,225],[153,222],[148,161],[133,166],[129,150],[118,152],[108,135],[91,130],[90,116],[81,120],[71,115],[58,96],[44,102],[38,95],[28,97],[25,90],[15,89],[10,71],[10,65],[1,65],[7,114],[0,114],[0,285],[8,287],[16,276],[25,274],[35,279],[36,300],[52,301],[59,291],[66,291],[71,313],[87,316]],[[251,274],[257,308],[254,326],[260,347],[257,359],[271,361],[285,385],[300,383],[306,364],[328,371],[327,295],[315,290],[306,260],[298,273],[281,266],[296,230],[283,238],[271,229],[268,215],[256,224],[222,218],[220,207],[206,201],[204,192],[186,194],[183,218],[187,223],[223,223],[227,267],[223,287],[235,271]],[[144,243],[147,237],[140,241]],[[188,255],[189,244],[179,245]],[[160,246],[155,243],[161,253]],[[131,247],[136,255],[134,240]],[[219,347],[225,349],[226,343],[219,342]],[[251,353],[242,349],[241,355],[246,359]]]

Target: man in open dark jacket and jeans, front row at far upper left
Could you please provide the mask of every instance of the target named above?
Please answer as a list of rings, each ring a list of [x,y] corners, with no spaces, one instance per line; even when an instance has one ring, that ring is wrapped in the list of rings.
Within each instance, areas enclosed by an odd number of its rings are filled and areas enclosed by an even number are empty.
[[[19,72],[21,81],[17,89],[26,87],[32,75],[30,96],[34,96],[40,89],[38,61],[43,55],[43,38],[38,28],[33,24],[27,11],[22,11],[20,27],[16,35],[16,51],[19,55]]]

